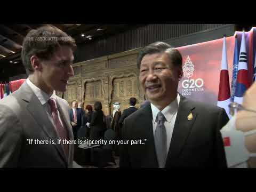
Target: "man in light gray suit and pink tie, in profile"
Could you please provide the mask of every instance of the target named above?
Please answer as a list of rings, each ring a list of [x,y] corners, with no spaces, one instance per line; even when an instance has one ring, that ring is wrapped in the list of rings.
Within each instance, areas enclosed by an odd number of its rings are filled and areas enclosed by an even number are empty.
[[[73,38],[52,27],[25,37],[21,57],[29,76],[0,100],[0,167],[73,167],[69,105],[55,91],[66,91],[74,75],[75,47]]]

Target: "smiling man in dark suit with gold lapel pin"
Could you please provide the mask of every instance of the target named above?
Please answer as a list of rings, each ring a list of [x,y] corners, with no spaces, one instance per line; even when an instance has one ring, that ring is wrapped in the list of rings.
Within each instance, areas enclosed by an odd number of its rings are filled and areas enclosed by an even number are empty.
[[[140,83],[150,104],[124,120],[120,167],[227,167],[220,129],[224,109],[182,97],[182,57],[156,42],[139,54]],[[133,144],[133,145],[132,145]]]

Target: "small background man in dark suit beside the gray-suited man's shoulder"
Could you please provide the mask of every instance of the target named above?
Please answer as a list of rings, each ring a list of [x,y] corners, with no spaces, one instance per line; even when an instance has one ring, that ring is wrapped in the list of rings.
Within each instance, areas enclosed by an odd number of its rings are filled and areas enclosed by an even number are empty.
[[[73,127],[74,139],[77,140],[77,132],[82,126],[84,112],[82,108],[78,108],[78,102],[75,100],[71,102],[71,106],[72,108],[69,109],[69,118]]]

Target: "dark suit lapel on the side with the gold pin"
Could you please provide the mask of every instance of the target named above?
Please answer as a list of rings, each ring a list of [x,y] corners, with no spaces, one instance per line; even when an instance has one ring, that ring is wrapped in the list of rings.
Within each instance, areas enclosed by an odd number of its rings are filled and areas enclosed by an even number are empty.
[[[190,105],[188,100],[180,95],[178,113],[165,164],[166,167],[175,167],[175,163],[178,161],[178,157],[186,143],[191,127],[193,126],[197,116],[194,109],[195,107]],[[190,113],[193,115],[192,119],[188,118]]]

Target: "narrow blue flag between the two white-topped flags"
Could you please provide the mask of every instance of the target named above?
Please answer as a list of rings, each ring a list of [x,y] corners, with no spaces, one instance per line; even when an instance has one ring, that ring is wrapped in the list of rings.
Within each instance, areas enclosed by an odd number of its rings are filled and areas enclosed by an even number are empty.
[[[231,101],[232,102],[234,101],[234,97],[235,97],[238,61],[239,61],[239,52],[238,52],[238,39],[237,39],[237,35],[236,35],[235,36],[234,58],[233,58],[233,73],[232,73],[232,82],[231,82]]]

